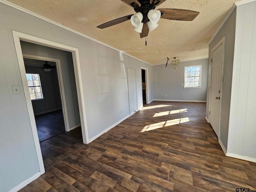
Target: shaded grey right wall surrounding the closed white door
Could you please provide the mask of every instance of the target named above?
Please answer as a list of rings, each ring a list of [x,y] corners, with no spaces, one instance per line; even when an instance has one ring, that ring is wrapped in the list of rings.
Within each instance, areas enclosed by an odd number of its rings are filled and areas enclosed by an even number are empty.
[[[218,31],[216,36],[209,44],[209,77],[207,88],[207,104],[206,104],[206,117],[209,119],[210,111],[210,86],[211,86],[211,52],[214,46],[225,37],[224,47],[224,65],[223,76],[225,81],[222,86],[222,103],[221,103],[221,121],[220,121],[220,140],[225,149],[228,145],[228,124],[230,113],[230,99],[231,99],[231,86],[232,86],[232,71],[234,60],[234,46],[235,46],[235,32],[236,32],[236,9],[232,12],[228,20],[224,23],[222,28]]]

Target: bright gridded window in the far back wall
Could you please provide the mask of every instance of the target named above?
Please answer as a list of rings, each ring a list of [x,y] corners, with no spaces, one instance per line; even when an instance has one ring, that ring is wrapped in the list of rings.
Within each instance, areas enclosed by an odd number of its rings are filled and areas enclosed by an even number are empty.
[[[184,88],[201,87],[202,65],[186,66],[184,69]]]

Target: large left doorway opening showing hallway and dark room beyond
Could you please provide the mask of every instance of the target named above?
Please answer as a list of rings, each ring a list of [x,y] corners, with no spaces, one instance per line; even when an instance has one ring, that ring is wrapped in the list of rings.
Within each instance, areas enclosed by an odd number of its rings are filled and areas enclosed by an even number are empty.
[[[72,53],[30,42],[20,44],[44,168],[48,169],[83,144]]]

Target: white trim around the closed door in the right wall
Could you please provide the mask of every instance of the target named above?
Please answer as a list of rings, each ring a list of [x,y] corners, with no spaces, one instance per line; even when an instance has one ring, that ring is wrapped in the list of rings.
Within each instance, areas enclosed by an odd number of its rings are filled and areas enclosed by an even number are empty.
[[[225,55],[225,36],[214,46],[214,48],[212,48],[211,50],[211,54],[210,54],[210,73],[209,73],[209,80],[210,80],[210,92],[209,92],[209,118],[208,118],[208,122],[210,123],[210,111],[211,111],[211,85],[212,85],[212,54],[213,52],[223,44],[223,59],[222,59],[222,83],[221,83],[221,89],[220,89],[220,122],[221,122],[221,104],[222,104],[222,87],[223,87],[223,70],[224,70],[224,55]],[[219,127],[219,135],[218,135],[218,139],[220,139],[220,127]]]

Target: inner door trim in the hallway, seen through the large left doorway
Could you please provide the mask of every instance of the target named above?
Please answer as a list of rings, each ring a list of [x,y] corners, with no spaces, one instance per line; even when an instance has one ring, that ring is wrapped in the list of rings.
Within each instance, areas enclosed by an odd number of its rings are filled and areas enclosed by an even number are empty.
[[[70,131],[70,127],[69,127],[69,123],[68,123],[68,110],[67,110],[67,105],[66,105],[66,96],[65,96],[65,92],[64,92],[64,83],[63,83],[63,78],[62,78],[62,70],[61,70],[60,60],[55,59],[55,58],[42,57],[42,56],[30,55],[30,54],[23,54],[23,58],[56,62],[56,70],[57,70],[57,76],[58,76],[58,84],[59,84],[59,88],[60,88],[60,99],[61,99],[61,105],[62,105],[65,130],[66,130],[66,132]]]

